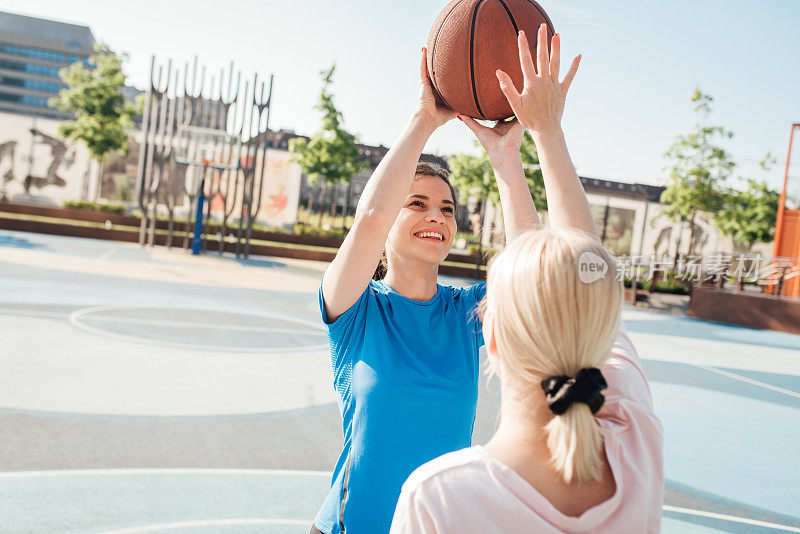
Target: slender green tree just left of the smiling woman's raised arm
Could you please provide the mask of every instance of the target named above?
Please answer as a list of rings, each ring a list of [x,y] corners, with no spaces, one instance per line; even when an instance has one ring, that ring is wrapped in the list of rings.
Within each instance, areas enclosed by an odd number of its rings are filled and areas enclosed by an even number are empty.
[[[325,203],[325,193],[329,185],[346,183],[347,195],[345,202],[350,199],[350,187],[353,175],[358,174],[366,162],[361,159],[358,149],[358,140],[342,126],[342,113],[336,108],[333,101],[331,86],[336,65],[320,72],[322,77],[322,91],[319,102],[314,109],[322,112],[322,126],[309,140],[296,137],[289,142],[292,159],[296,161],[303,172],[308,176],[312,185],[319,179],[323,180],[322,204]],[[333,215],[335,204],[331,207]],[[309,199],[308,212],[311,211]],[[344,226],[347,207],[343,210],[342,226]],[[322,215],[320,215],[320,222]]]

